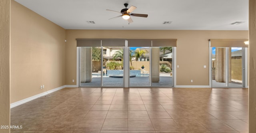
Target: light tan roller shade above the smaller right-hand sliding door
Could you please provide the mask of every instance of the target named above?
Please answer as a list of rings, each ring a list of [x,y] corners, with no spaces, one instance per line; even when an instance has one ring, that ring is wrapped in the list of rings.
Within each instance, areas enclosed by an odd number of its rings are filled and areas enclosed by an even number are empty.
[[[210,47],[248,47],[248,45],[244,44],[247,39],[231,39],[231,40],[224,40],[224,39],[210,39]]]

